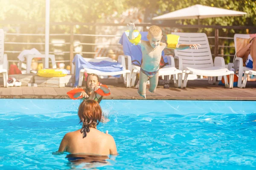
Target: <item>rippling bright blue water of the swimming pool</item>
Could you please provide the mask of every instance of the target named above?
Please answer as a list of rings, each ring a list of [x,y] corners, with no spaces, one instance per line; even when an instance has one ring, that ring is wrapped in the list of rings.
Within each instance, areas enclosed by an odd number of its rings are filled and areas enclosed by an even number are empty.
[[[82,169],[58,150],[78,100],[0,99],[0,169]],[[119,156],[97,169],[255,169],[256,102],[103,100]]]

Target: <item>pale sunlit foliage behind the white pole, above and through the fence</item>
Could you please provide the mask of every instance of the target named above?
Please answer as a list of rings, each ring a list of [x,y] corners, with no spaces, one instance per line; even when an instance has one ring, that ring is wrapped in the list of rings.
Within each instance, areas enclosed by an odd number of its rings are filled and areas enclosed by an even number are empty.
[[[102,16],[113,14],[114,11],[121,12],[125,8],[124,0],[50,0],[50,22],[82,22],[96,23]],[[41,22],[42,25],[22,25],[19,27],[20,33],[44,33],[45,21],[45,0],[0,0],[0,21],[18,21],[18,22]],[[126,7],[128,8],[128,7]],[[17,32],[16,26],[9,27],[8,32]],[[92,26],[76,26],[75,33],[95,34]],[[58,25],[51,26],[50,33],[70,33],[70,26]],[[59,37],[51,37],[59,38]],[[70,37],[61,37],[69,42]],[[79,37],[81,42],[93,42],[94,37]],[[39,37],[17,37],[8,36],[7,41],[15,42],[43,42]],[[6,45],[6,49],[21,51],[32,48],[34,45]],[[44,45],[37,46],[40,51],[44,51]],[[50,46],[52,48],[52,46]],[[64,51],[69,51],[69,45],[65,45]],[[91,51],[93,46],[85,46],[84,50]],[[10,54],[11,55],[11,54]],[[66,55],[68,57],[68,55]]]

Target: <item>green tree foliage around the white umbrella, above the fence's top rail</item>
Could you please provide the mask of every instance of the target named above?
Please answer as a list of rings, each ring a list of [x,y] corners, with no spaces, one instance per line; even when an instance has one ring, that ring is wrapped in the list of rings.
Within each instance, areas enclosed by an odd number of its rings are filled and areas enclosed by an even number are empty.
[[[129,4],[129,1],[126,1]],[[202,20],[202,25],[221,26],[255,26],[256,2],[255,0],[137,0],[132,1],[133,6],[140,6],[151,11],[154,16],[166,14],[181,8],[196,4],[213,6],[217,8],[231,9],[247,12],[243,17],[218,17]],[[185,20],[183,24],[197,24],[196,20]]]

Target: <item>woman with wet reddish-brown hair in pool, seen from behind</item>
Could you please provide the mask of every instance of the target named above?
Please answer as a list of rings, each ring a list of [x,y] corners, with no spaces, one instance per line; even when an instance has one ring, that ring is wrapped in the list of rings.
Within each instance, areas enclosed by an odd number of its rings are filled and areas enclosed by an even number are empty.
[[[88,99],[79,105],[78,116],[82,128],[67,133],[60,144],[58,152],[88,153],[91,155],[116,155],[116,143],[111,135],[97,130],[102,118],[99,103]]]

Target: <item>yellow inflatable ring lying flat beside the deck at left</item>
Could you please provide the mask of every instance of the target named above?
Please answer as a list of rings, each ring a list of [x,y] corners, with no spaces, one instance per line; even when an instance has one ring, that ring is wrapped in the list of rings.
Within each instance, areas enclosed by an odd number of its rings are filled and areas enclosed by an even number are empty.
[[[67,75],[67,70],[64,69],[41,69],[38,70],[38,76],[41,77],[64,77]]]

